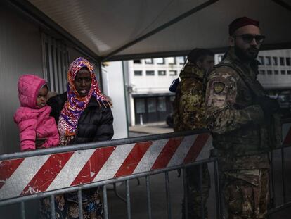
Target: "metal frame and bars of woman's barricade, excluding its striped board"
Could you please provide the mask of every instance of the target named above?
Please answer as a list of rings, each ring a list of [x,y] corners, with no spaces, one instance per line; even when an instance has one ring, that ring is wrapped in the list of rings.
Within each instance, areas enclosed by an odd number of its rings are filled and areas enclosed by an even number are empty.
[[[143,142],[157,142],[159,140],[164,141],[164,139],[191,139],[192,137],[198,137],[199,134],[203,134],[207,132],[207,130],[196,130],[196,131],[190,131],[190,132],[180,132],[180,133],[170,133],[170,134],[157,134],[152,136],[146,136],[146,137],[134,137],[134,138],[128,138],[128,139],[117,139],[112,140],[110,142],[99,142],[99,143],[92,143],[92,144],[82,144],[82,145],[75,145],[75,146],[65,146],[65,147],[58,147],[53,149],[44,149],[39,151],[27,151],[27,152],[20,152],[15,154],[3,154],[0,155],[0,162],[1,161],[10,161],[10,160],[17,160],[20,158],[32,158],[39,156],[46,156],[51,154],[60,154],[60,153],[66,153],[66,152],[72,152],[72,151],[88,151],[91,149],[102,149],[110,146],[124,146],[128,144],[137,144],[137,143],[143,143]],[[181,140],[182,141],[182,140]],[[167,144],[166,144],[167,145]],[[190,149],[190,147],[189,147]],[[158,152],[160,153],[160,152]],[[184,157],[186,154],[184,155]],[[79,204],[79,218],[83,218],[82,216],[82,190],[89,189],[93,187],[102,187],[102,193],[103,193],[103,207],[104,207],[104,218],[109,218],[108,215],[108,185],[109,184],[116,184],[118,182],[124,182],[126,184],[126,203],[127,203],[127,218],[131,218],[131,199],[130,199],[130,186],[129,186],[129,180],[133,180],[136,178],[145,178],[145,190],[147,195],[147,201],[148,201],[148,218],[153,218],[152,215],[152,207],[151,207],[151,194],[150,194],[150,176],[151,175],[157,175],[157,174],[164,174],[164,185],[166,188],[166,203],[167,203],[167,218],[173,218],[172,216],[172,193],[169,189],[169,184],[171,183],[169,181],[169,172],[173,170],[182,170],[183,173],[183,191],[186,191],[187,188],[187,180],[185,175],[185,168],[188,168],[192,165],[202,165],[203,163],[213,163],[214,165],[214,180],[215,180],[215,192],[216,192],[216,211],[220,214],[220,200],[219,200],[219,180],[218,180],[218,172],[217,172],[217,163],[216,158],[208,158],[203,159],[200,161],[190,161],[188,163],[179,163],[179,165],[170,165],[164,168],[158,168],[156,170],[149,170],[141,173],[134,173],[131,175],[125,175],[122,177],[112,177],[108,180],[101,180],[98,182],[90,182],[88,184],[78,184],[72,187],[64,187],[59,188],[56,190],[46,191],[46,192],[36,192],[34,194],[25,195],[25,196],[17,196],[17,197],[8,197],[7,199],[2,199],[0,196],[0,206],[6,206],[8,204],[15,204],[20,203],[20,214],[21,218],[25,218],[25,202],[30,201],[32,199],[43,199],[45,197],[50,197],[51,199],[51,218],[55,218],[56,215],[56,206],[55,206],[55,196],[58,194],[64,194],[67,192],[77,192],[78,196],[78,204]],[[0,164],[1,165],[1,164]],[[202,168],[200,168],[201,171]],[[202,175],[202,173],[200,173]],[[200,188],[202,188],[202,180],[200,180]],[[1,193],[0,193],[1,194]],[[187,201],[188,196],[187,192],[184,192],[184,199]],[[204,209],[203,203],[201,204],[201,209]],[[202,211],[203,212],[203,211]],[[188,215],[188,208],[186,205],[186,218]],[[202,215],[202,218],[205,218],[205,215]]]

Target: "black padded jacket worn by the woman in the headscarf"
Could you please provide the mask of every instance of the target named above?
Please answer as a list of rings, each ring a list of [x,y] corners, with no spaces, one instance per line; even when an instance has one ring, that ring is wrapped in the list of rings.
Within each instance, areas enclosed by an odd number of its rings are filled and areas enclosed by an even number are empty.
[[[58,123],[60,111],[67,101],[67,92],[54,96],[48,100],[48,106],[51,106],[51,116]],[[96,99],[92,96],[89,104],[82,112],[78,125],[75,142],[70,144],[82,144],[86,142],[100,142],[110,140],[113,136],[113,115],[107,103],[107,106],[100,107]]]

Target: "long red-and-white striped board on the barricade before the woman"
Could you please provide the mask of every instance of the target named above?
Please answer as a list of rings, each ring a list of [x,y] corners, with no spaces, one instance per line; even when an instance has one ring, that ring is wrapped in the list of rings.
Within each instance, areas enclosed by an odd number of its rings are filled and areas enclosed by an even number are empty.
[[[193,163],[211,148],[198,134],[0,161],[0,200]]]

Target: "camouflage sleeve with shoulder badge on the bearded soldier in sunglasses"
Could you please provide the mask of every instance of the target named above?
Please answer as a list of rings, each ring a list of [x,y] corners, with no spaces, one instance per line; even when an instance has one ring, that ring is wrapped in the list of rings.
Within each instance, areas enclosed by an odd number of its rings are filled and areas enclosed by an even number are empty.
[[[259,105],[235,109],[238,92],[238,76],[235,74],[217,70],[207,80],[205,116],[212,132],[222,134],[264,120],[264,113]]]

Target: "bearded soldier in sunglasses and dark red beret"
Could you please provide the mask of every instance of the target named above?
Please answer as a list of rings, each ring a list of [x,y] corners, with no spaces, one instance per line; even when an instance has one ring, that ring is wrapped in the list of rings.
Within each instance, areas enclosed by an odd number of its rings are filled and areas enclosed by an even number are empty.
[[[268,151],[280,144],[278,103],[257,81],[264,42],[259,22],[237,18],[229,25],[229,49],[207,78],[206,119],[219,158],[228,218],[266,218]],[[277,135],[276,135],[277,133]]]

